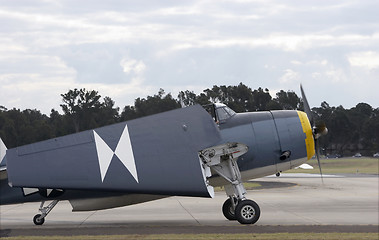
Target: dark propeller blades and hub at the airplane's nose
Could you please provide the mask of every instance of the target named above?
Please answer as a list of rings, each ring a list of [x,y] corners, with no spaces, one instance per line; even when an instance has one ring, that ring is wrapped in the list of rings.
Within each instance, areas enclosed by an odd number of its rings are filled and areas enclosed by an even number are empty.
[[[313,139],[315,141],[315,152],[316,152],[316,157],[317,157],[318,168],[320,169],[320,175],[321,175],[322,183],[324,183],[324,179],[322,177],[322,170],[321,170],[318,138],[323,136],[323,135],[326,135],[328,133],[328,129],[326,128],[325,122],[323,122],[323,121],[315,122],[314,121],[311,108],[309,107],[308,100],[305,96],[303,86],[301,84],[300,84],[300,91],[301,91],[301,97],[303,99],[304,111],[307,114],[308,119],[309,119],[311,126],[312,126],[312,132],[313,132]]]

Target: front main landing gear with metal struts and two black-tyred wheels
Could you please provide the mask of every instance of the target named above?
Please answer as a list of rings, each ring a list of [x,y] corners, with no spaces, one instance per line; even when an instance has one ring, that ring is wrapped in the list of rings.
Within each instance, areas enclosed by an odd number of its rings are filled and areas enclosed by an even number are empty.
[[[258,221],[261,211],[256,202],[246,199],[246,189],[242,184],[241,172],[236,160],[246,153],[247,146],[241,143],[227,143],[207,148],[199,153],[205,164],[220,177],[229,182],[225,186],[229,197],[223,206],[222,213],[228,220],[237,220],[241,224],[254,224]]]

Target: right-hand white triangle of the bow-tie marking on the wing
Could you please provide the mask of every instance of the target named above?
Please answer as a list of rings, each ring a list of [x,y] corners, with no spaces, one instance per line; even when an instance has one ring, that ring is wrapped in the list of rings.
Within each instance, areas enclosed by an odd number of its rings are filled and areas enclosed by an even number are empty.
[[[134,159],[132,144],[130,142],[128,125],[125,125],[120,141],[117,144],[115,154],[138,183],[136,162]]]

